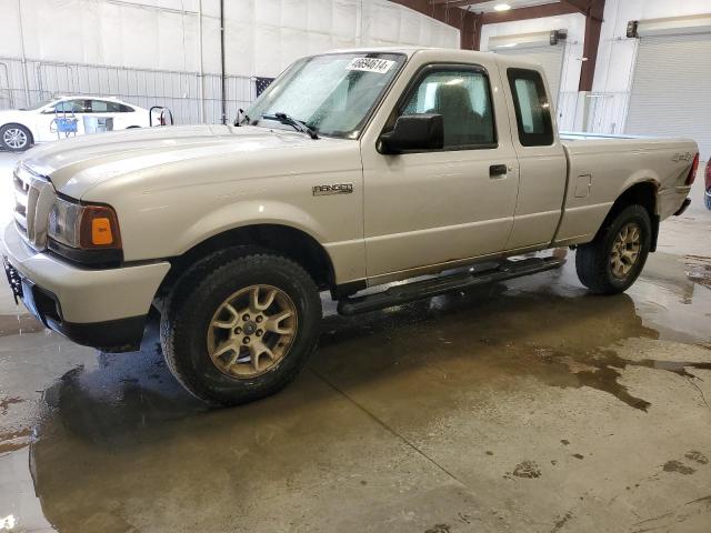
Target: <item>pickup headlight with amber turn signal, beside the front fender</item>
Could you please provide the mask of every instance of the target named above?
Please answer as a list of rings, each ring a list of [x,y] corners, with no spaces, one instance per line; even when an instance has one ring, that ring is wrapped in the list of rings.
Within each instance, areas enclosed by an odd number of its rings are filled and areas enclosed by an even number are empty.
[[[121,234],[110,205],[83,204],[57,198],[49,213],[49,248],[88,264],[121,262]],[[117,255],[118,252],[118,255]]]

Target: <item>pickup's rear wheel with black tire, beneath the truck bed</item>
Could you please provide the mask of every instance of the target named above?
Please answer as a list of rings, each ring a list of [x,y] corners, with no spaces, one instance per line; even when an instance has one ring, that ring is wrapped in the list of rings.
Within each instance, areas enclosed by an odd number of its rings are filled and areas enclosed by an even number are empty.
[[[595,294],[618,294],[624,292],[634,283],[640,272],[644,268],[647,257],[652,242],[652,223],[649,212],[641,205],[630,205],[620,211],[617,215],[605,220],[595,239],[578,248],[575,253],[575,270],[580,282]],[[631,224],[631,225],[630,225]],[[618,237],[622,237],[624,229],[639,229],[639,249],[633,261],[629,258],[633,255],[633,250],[629,249],[631,243],[620,244],[622,254],[615,252]],[[633,234],[629,239],[633,239]],[[622,258],[624,254],[625,258]],[[620,268],[620,262],[623,268]],[[629,269],[624,272],[624,269]],[[617,271],[617,272],[615,272]]]

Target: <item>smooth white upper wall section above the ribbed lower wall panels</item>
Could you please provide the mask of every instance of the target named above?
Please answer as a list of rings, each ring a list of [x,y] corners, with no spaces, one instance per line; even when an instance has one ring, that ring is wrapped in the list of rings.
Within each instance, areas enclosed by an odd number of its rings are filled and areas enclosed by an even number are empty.
[[[21,6],[21,12],[20,12]],[[202,8],[201,8],[202,6]],[[388,0],[226,0],[227,69],[273,76],[333,48],[459,48],[459,31]],[[219,0],[0,0],[0,56],[220,72]],[[21,23],[20,23],[21,21]]]

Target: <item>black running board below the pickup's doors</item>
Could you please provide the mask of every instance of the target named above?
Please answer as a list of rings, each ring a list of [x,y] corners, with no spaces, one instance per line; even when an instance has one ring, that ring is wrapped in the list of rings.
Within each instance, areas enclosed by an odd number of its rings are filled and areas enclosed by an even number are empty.
[[[438,294],[450,291],[459,291],[485,283],[545,272],[547,270],[558,269],[564,263],[564,259],[558,258],[531,258],[520,261],[504,261],[499,266],[481,272],[471,270],[458,272],[455,274],[393,285],[375,294],[344,298],[338,302],[338,312],[346,315],[367,313],[378,309],[392,308],[394,305],[414,302],[415,300],[437,296]]]

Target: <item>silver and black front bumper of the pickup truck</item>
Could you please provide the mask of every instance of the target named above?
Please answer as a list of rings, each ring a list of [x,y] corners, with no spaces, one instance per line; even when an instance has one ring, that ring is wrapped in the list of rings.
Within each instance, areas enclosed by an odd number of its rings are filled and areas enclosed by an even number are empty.
[[[118,269],[81,269],[29,248],[14,223],[3,232],[3,262],[13,292],[46,326],[79,344],[130,350],[143,336],[166,261]],[[19,288],[19,289],[18,289]]]

